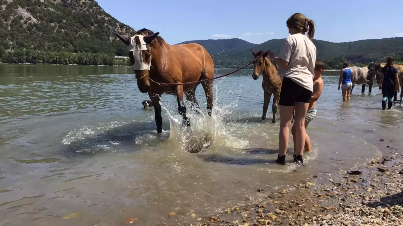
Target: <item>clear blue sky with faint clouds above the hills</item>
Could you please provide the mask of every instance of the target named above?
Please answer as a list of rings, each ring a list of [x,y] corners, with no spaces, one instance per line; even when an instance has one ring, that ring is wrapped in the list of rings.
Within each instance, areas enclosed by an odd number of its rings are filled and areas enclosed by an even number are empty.
[[[403,37],[403,0],[96,0],[118,21],[160,32],[169,44],[287,37],[286,21],[301,12],[316,23],[315,39],[346,42]],[[388,6],[384,6],[387,3]]]

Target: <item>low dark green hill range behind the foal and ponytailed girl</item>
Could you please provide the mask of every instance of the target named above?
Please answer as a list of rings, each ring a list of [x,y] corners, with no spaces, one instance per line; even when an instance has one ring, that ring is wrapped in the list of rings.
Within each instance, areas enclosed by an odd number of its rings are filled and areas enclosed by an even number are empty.
[[[214,54],[220,51],[219,48],[212,48],[220,42],[221,45],[227,40],[200,40],[189,41],[197,42],[208,50],[212,55],[214,64],[217,68],[239,68],[253,59],[250,50],[257,51],[272,50],[277,54],[280,52],[280,48],[284,43],[284,39],[272,39],[266,41],[260,45],[239,47],[239,50],[229,51],[222,54]],[[230,41],[229,41],[230,42]],[[387,56],[394,55],[396,61],[403,61],[403,37],[397,38],[384,38],[384,39],[367,39],[343,43],[333,43],[329,41],[314,40],[313,41],[317,53],[318,59],[324,60],[328,66],[337,68],[341,61],[347,59],[354,64],[368,64],[376,60],[385,60]]]

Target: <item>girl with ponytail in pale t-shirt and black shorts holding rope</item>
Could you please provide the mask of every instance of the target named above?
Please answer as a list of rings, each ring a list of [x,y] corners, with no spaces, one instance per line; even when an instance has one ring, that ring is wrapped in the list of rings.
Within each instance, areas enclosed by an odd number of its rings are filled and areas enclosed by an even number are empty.
[[[278,57],[269,52],[283,78],[280,91],[280,135],[276,162],[285,164],[291,117],[295,106],[294,162],[303,165],[302,153],[305,144],[305,116],[312,97],[315,74],[316,47],[312,43],[315,23],[302,13],[295,13],[287,20],[288,32]],[[306,34],[306,35],[305,35]]]

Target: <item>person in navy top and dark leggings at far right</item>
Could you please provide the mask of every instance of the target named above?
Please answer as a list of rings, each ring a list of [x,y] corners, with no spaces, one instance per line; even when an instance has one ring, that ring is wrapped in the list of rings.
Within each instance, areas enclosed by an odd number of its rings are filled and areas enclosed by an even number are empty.
[[[379,89],[382,90],[382,110],[386,109],[386,100],[388,100],[388,110],[391,109],[395,92],[400,92],[399,76],[393,62],[395,62],[393,57],[388,57],[386,66],[381,70],[383,76]]]

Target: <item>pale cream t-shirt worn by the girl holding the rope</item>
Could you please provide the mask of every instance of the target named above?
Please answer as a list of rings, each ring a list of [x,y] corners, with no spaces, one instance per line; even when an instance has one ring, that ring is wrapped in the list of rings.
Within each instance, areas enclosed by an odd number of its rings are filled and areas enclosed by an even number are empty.
[[[289,35],[278,58],[288,62],[288,67],[279,71],[281,77],[291,78],[303,88],[313,90],[316,47],[306,35]]]

